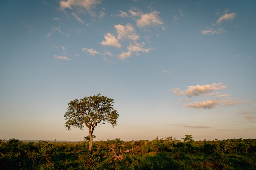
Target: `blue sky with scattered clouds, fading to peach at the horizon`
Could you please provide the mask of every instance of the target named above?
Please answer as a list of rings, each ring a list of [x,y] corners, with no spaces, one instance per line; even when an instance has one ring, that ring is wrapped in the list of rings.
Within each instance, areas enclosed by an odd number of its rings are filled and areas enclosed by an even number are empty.
[[[83,140],[68,103],[114,99],[94,140],[256,138],[256,1],[0,2],[0,138]]]

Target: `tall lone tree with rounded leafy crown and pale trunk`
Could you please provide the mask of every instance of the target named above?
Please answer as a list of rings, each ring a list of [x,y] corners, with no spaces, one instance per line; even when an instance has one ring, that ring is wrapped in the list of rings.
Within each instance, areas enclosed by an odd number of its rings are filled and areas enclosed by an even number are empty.
[[[114,99],[98,94],[68,103],[67,112],[64,115],[67,120],[65,127],[68,128],[67,130],[72,126],[83,130],[85,124],[89,128],[89,151],[92,151],[92,134],[96,126],[105,122],[113,127],[117,125],[116,119],[119,115],[113,108],[113,101]]]

